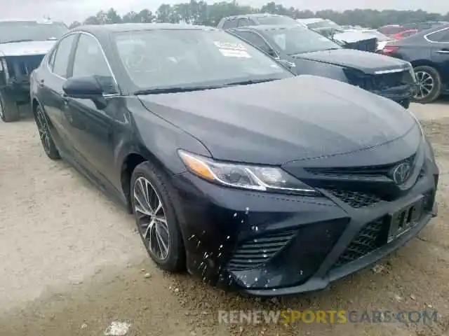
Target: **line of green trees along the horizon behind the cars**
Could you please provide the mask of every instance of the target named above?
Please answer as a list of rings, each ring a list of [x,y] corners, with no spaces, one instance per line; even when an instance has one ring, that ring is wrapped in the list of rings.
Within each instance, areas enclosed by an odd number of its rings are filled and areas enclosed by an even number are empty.
[[[407,24],[424,21],[449,21],[449,12],[445,15],[440,13],[428,13],[424,10],[373,10],[354,9],[337,12],[335,10],[299,10],[297,8],[286,8],[281,4],[269,2],[260,8],[241,6],[235,0],[232,2],[218,2],[208,4],[202,0],[190,0],[186,3],[175,5],[161,4],[153,13],[151,10],[142,9],[140,12],[129,12],[125,15],[110,8],[100,10],[83,22],[73,22],[70,27],[85,25],[107,25],[112,23],[126,22],[185,22],[193,25],[206,25],[215,27],[221,18],[229,15],[248,13],[272,13],[288,15],[291,18],[325,18],[337,22],[340,25],[361,25],[364,27],[377,28],[383,25]]]

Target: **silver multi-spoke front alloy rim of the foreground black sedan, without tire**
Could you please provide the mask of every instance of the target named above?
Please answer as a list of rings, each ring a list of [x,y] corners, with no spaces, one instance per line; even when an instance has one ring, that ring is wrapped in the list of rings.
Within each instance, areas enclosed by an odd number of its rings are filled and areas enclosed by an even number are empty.
[[[170,232],[166,213],[158,193],[145,177],[138,177],[133,188],[134,212],[145,246],[159,260],[170,252]]]

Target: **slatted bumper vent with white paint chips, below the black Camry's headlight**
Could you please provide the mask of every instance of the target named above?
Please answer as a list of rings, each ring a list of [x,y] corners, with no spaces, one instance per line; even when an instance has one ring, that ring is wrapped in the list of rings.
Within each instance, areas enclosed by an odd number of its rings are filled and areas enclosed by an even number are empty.
[[[258,267],[281,251],[295,234],[296,231],[286,231],[243,241],[237,246],[226,268],[239,271]]]

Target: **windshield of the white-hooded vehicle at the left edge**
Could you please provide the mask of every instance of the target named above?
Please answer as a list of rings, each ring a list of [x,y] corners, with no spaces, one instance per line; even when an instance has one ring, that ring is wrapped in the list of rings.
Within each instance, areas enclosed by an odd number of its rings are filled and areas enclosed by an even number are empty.
[[[0,22],[0,43],[15,41],[58,40],[69,29],[61,22],[39,23],[35,21]]]

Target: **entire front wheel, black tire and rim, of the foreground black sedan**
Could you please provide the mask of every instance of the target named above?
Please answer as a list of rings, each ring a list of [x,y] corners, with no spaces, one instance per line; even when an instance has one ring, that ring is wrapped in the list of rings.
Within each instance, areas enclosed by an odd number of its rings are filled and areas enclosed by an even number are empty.
[[[174,193],[171,191],[172,187],[170,186],[166,174],[151,162],[143,162],[135,167],[130,183],[130,198],[133,215],[135,216],[135,223],[149,256],[161,269],[168,272],[180,272],[184,270],[185,247],[182,241],[180,225],[175,214],[175,207],[173,205]],[[147,184],[145,185],[145,183]],[[145,195],[140,193],[140,190],[142,190],[142,186],[144,185],[147,186],[147,190],[149,190],[147,193],[148,197],[145,197]],[[154,194],[151,193],[151,189],[154,190]],[[145,198],[150,201],[153,200],[153,202],[150,202],[151,208],[156,208],[157,202],[154,196],[159,198],[162,208],[161,210],[156,211],[156,216],[145,215],[144,212],[147,211],[148,208],[144,209],[145,204],[142,204],[142,202],[145,202]],[[149,225],[146,224],[152,223],[152,218],[162,218],[163,216],[165,216],[166,223],[155,219],[153,227],[147,230]],[[165,258],[163,258],[164,255],[162,255],[162,253],[156,251],[157,246],[154,248],[154,245],[156,244],[159,244],[161,249],[161,246],[163,246],[163,244],[160,244],[160,240],[156,237],[156,232],[161,232],[159,237],[165,238],[167,238],[167,235],[164,232],[168,232],[168,239],[166,240],[168,251],[166,251]],[[147,234],[145,235],[145,233]],[[150,248],[150,246],[152,247]]]

